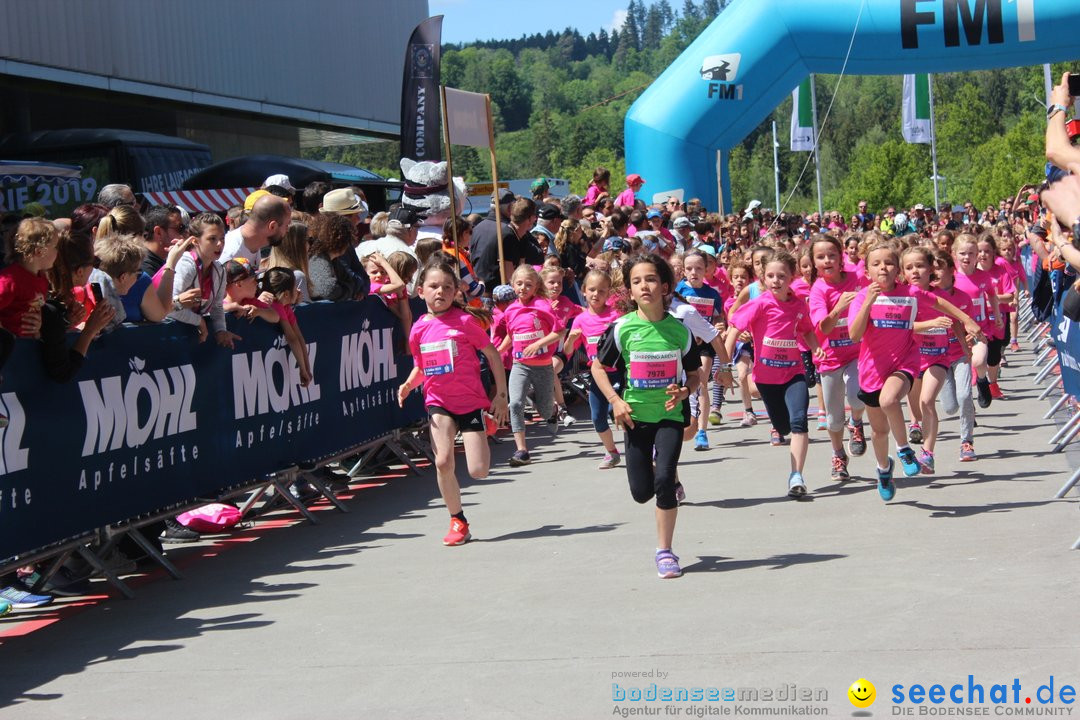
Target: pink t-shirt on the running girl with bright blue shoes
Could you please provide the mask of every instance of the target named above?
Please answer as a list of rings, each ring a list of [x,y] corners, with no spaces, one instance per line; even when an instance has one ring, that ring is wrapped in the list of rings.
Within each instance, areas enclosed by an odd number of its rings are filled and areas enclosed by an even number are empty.
[[[848,308],[848,324],[866,303],[863,288]],[[867,392],[880,390],[886,378],[897,370],[913,378],[919,371],[919,354],[915,344],[915,314],[919,302],[933,303],[934,296],[910,285],[897,285],[881,293],[870,309],[866,330],[859,343],[859,388]]]

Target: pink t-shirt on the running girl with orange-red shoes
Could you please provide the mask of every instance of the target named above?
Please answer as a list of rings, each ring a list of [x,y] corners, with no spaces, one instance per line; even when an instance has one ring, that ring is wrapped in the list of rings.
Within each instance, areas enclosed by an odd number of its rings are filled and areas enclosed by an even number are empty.
[[[423,404],[465,415],[491,403],[480,379],[476,351],[490,344],[475,317],[450,308],[441,315],[424,313],[408,338],[413,358],[423,377]]]

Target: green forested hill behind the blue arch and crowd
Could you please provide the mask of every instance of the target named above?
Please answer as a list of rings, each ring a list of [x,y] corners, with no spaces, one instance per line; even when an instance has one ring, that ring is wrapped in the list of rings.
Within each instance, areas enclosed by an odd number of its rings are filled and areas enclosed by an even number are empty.
[[[676,10],[667,0],[648,5],[632,0],[625,24],[610,32],[568,28],[445,45],[442,81],[491,95],[501,178],[563,177],[583,193],[596,165],[610,168],[612,178],[625,174],[626,110],[727,4],[686,0]],[[1066,69],[1054,66],[1055,77]],[[819,118],[825,118],[836,96],[822,130],[826,206],[847,212],[859,198],[872,206],[933,201],[930,146],[907,145],[901,136],[901,84],[900,77],[818,76]],[[1041,66],[934,76],[943,200],[986,205],[1041,177],[1042,97]],[[787,150],[791,110],[788,98],[733,149],[737,206],[754,198],[774,204],[771,120],[781,146],[782,195],[795,186],[808,153]],[[307,154],[397,177],[397,152],[396,142],[378,142]],[[489,179],[486,151],[455,148],[454,160],[456,174],[470,181]],[[715,198],[704,200],[715,207]],[[788,207],[815,206],[809,167]]]

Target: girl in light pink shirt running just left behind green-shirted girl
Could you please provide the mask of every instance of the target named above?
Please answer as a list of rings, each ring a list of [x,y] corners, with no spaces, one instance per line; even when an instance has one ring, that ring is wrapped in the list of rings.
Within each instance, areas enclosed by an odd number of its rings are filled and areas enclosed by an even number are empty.
[[[573,352],[582,342],[585,345],[585,356],[590,365],[596,358],[596,348],[604,331],[622,316],[622,312],[608,304],[608,297],[611,295],[611,276],[599,270],[590,270],[585,273],[582,283],[582,290],[585,296],[588,308],[573,318],[570,332],[566,336],[563,345],[567,357],[572,357]],[[611,386],[621,390],[623,386],[622,375],[616,368],[604,368],[607,372],[608,382]],[[592,413],[593,430],[600,436],[604,444],[604,459],[600,461],[600,470],[610,470],[619,464],[619,448],[615,444],[611,427],[608,425],[608,411],[610,404],[604,397],[604,393],[596,386],[596,381],[589,379],[589,409]]]

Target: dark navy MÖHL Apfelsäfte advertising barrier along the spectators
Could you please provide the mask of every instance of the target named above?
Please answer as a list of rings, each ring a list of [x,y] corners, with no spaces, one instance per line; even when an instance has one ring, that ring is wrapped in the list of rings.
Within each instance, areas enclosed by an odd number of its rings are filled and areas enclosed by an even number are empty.
[[[313,382],[276,326],[229,317],[234,350],[180,323],[99,337],[68,383],[18,341],[3,368],[0,558],[319,461],[423,418],[382,302],[297,308]],[[72,336],[73,337],[73,336]]]

